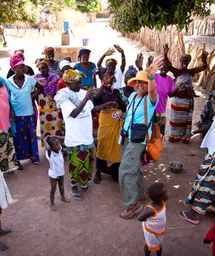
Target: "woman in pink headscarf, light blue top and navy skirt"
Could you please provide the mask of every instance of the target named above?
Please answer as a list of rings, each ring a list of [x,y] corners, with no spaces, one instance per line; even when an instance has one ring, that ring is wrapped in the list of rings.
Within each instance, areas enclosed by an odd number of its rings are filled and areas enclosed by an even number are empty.
[[[13,141],[16,159],[18,161],[30,159],[33,163],[39,163],[32,100],[42,93],[43,88],[39,82],[36,82],[36,79],[24,73],[25,65],[21,56],[12,56],[10,67],[15,72],[14,76],[7,79],[7,86],[15,111],[16,136]],[[32,93],[33,87],[36,87],[36,93]],[[19,163],[19,168],[22,168],[21,163]]]

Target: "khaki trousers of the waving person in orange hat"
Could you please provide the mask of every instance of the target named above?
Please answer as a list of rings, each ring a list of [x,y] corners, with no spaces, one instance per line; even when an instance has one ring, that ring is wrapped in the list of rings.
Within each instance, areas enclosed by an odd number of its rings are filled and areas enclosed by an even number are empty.
[[[122,201],[127,209],[135,205],[137,200],[144,196],[142,173],[140,171],[141,156],[144,150],[144,144],[125,140],[122,161],[119,166],[119,187]]]

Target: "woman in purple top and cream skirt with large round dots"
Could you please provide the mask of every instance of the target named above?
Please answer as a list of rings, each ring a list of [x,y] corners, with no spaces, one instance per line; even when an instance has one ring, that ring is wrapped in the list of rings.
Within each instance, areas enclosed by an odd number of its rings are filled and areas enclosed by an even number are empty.
[[[40,131],[42,147],[44,147],[44,138],[47,135],[62,136],[62,112],[56,108],[56,102],[53,99],[60,78],[56,74],[49,73],[47,59],[37,59],[36,66],[40,73],[34,77],[44,89],[43,93],[39,95]]]

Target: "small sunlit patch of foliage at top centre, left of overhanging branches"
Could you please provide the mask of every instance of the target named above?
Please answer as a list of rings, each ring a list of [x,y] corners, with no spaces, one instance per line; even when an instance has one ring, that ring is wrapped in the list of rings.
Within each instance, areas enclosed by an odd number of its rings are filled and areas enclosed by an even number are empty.
[[[79,0],[75,4],[76,9],[82,13],[96,13],[102,10],[101,0]]]

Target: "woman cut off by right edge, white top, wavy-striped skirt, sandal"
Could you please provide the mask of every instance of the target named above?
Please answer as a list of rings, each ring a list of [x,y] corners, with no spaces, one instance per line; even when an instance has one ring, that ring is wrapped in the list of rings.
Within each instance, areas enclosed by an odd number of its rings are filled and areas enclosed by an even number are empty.
[[[206,211],[215,213],[215,120],[202,141],[201,148],[207,148],[202,165],[196,175],[193,188],[185,199],[185,204],[192,206],[189,211],[179,211],[179,217],[193,224],[199,224],[199,214]]]

